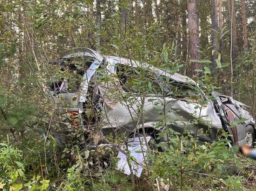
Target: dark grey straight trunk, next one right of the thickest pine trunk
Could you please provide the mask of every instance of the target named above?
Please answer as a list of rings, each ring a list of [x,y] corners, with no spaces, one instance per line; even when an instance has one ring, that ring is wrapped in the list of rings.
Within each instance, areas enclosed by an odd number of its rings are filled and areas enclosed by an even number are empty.
[[[216,59],[218,58],[218,44],[217,44],[217,35],[218,35],[218,0],[211,0],[211,22],[212,22],[212,56],[211,62],[213,63],[213,74],[217,74],[217,63]]]

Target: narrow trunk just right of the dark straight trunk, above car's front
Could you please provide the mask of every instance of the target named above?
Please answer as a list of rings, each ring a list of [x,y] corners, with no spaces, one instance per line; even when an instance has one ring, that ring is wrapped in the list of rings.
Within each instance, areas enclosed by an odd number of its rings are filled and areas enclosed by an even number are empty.
[[[220,37],[223,35],[223,20],[222,20],[222,0],[219,0],[219,30],[220,30]],[[220,62],[225,63],[225,51],[224,51],[224,42],[223,38],[220,38]],[[226,87],[226,75],[225,75],[225,68],[222,68],[221,71],[221,83],[222,83],[222,92],[224,95],[228,95],[227,87]]]

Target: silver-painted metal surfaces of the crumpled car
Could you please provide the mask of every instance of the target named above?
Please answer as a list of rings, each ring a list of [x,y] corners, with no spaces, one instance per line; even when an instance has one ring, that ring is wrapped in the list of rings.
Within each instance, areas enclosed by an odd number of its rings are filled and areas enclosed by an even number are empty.
[[[72,53],[72,54],[71,54]],[[99,53],[96,53],[90,49],[75,49],[75,51],[65,51],[61,54],[61,58],[71,58],[75,56],[85,56],[85,57],[92,57],[95,59],[93,64],[90,66],[90,68],[86,71],[83,82],[81,83],[81,91],[75,92],[75,93],[59,93],[58,95],[52,96],[53,104],[58,104],[61,111],[64,113],[66,109],[68,110],[79,110],[79,114],[82,115],[83,111],[83,103],[86,101],[86,94],[88,93],[88,86],[89,82],[95,73],[96,69],[100,66],[101,63],[105,61],[105,72],[107,74],[115,73],[115,64],[128,64],[130,66],[140,66],[142,67],[142,64],[140,62],[135,62],[133,60],[125,59],[125,58],[119,58],[114,56],[102,56]],[[189,83],[192,85],[197,85],[194,80],[182,76],[181,74],[170,74],[169,72],[165,72],[163,70],[160,70],[155,67],[151,67],[147,64],[143,64],[143,66],[146,66],[150,68],[151,70],[155,72],[160,72],[164,76],[168,76],[171,80],[182,82],[182,83]],[[118,82],[115,82],[118,83]],[[109,135],[112,133],[113,135],[117,135],[120,133],[125,133],[126,136],[129,136],[132,134],[136,128],[142,128],[142,123],[139,123],[139,116],[137,114],[138,107],[137,105],[141,104],[141,101],[143,98],[138,97],[137,95],[132,95],[130,99],[136,100],[132,103],[128,103],[125,100],[117,99],[114,95],[114,97],[109,97],[108,95],[108,87],[116,87],[116,92],[126,94],[123,89],[118,87],[117,84],[112,84],[111,82],[107,84],[101,84],[99,85],[99,90],[101,93],[101,97],[104,104],[104,114],[101,115],[101,131],[103,134]],[[65,87],[65,81],[62,84],[62,87]],[[136,97],[137,96],[137,97]],[[216,95],[218,96],[218,95]],[[74,97],[76,99],[74,99]],[[152,95],[154,97],[154,95]],[[195,107],[197,106],[197,103],[190,103],[187,104],[187,101],[176,99],[173,97],[158,97],[156,100],[152,101],[152,97],[145,97],[144,99],[144,127],[151,127],[155,128],[158,131],[162,131],[164,128],[172,128],[174,131],[177,131],[179,133],[183,133],[185,128],[188,128],[194,132],[197,132],[198,129],[203,129],[204,133],[208,133],[208,135],[200,135],[199,140],[200,142],[212,142],[217,140],[218,133],[223,130],[223,125],[221,122],[220,117],[217,115],[214,109],[214,105],[212,101],[209,101],[205,107],[200,110],[199,108]],[[247,124],[254,124],[253,118],[247,111],[242,109],[238,103],[233,100],[233,109],[237,109],[239,111],[239,114],[242,118],[248,119]],[[156,104],[161,102],[161,104]],[[111,104],[110,104],[111,103]],[[218,103],[222,105],[221,103]],[[68,107],[68,108],[67,108]],[[158,111],[164,110],[163,114],[159,114]],[[174,112],[175,111],[175,112]],[[193,114],[191,114],[193,113]],[[163,119],[164,115],[168,115],[170,119],[174,120],[175,123],[168,124],[167,127],[162,128],[156,128],[156,123]],[[191,121],[194,119],[198,119],[198,117],[201,116],[202,120],[205,120],[205,122],[200,122],[197,125],[192,125]],[[223,117],[223,116],[222,116]],[[202,121],[201,120],[201,121]],[[82,122],[81,122],[82,124]],[[244,143],[244,125],[238,125],[236,127],[238,129],[238,142],[234,142],[235,144],[243,144]],[[232,133],[232,131],[229,131]],[[163,137],[161,141],[166,141],[166,137]]]

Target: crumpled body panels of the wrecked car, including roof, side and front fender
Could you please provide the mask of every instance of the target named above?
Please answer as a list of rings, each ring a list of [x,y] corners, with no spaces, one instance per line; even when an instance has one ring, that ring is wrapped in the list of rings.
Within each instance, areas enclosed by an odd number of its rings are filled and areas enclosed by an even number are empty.
[[[95,127],[95,125],[88,125],[82,119],[86,115],[86,104],[93,103],[96,97],[100,97],[96,100],[98,102],[96,112],[101,113],[100,120],[97,123],[100,127],[98,129],[102,131],[104,136],[109,136],[110,134],[117,136],[124,133],[126,137],[129,137],[136,129],[142,127],[153,128],[156,132],[161,132],[165,128],[172,128],[182,134],[186,128],[193,131],[193,135],[197,136],[199,142],[203,143],[216,141],[224,130],[233,136],[231,141],[234,144],[241,145],[245,141],[245,126],[248,124],[254,126],[252,116],[241,107],[248,106],[229,96],[213,92],[212,94],[216,96],[216,100],[208,101],[202,109],[199,109],[197,98],[184,99],[189,95],[161,96],[149,93],[147,96],[141,96],[130,92],[128,94],[121,86],[120,79],[114,77],[117,75],[118,65],[145,67],[151,70],[156,78],[158,76],[170,78],[174,86],[183,87],[183,85],[188,85],[198,87],[194,80],[181,74],[172,74],[168,69],[156,68],[146,63],[142,64],[126,58],[103,56],[87,48],[68,50],[60,55],[62,60],[72,60],[75,57],[83,57],[84,60],[90,58],[92,60],[92,64],[84,71],[79,90],[68,91],[69,82],[64,79],[60,90],[51,94],[51,101],[58,108],[59,114],[67,111],[78,111],[81,116],[80,125],[84,129]],[[61,63],[63,64],[63,61]],[[113,76],[112,79],[107,82],[100,82],[100,84],[96,83],[97,75],[99,75],[97,71],[100,68],[105,74],[110,77]],[[155,83],[159,84],[160,81],[156,79]],[[94,85],[93,90],[90,90],[92,86],[90,84]],[[92,91],[93,98],[88,97],[91,94],[90,91]],[[140,121],[140,115],[138,114],[138,106],[141,105],[143,105],[144,111],[143,123]],[[142,110],[142,108],[140,109]],[[157,127],[157,123],[165,116],[168,116],[174,123]],[[231,129],[229,128],[234,121],[242,118],[247,120]],[[195,120],[199,121],[198,125],[193,122]],[[203,134],[197,134],[199,129]],[[91,145],[92,141],[92,139],[88,139],[88,144]],[[160,142],[164,141],[167,141],[167,137],[161,138]],[[104,140],[101,143],[103,142]]]

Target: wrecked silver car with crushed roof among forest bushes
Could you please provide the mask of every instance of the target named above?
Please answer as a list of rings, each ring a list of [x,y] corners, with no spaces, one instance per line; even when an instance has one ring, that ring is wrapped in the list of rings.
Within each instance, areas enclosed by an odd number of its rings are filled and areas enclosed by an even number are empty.
[[[222,131],[232,135],[232,144],[254,142],[255,124],[245,110],[248,106],[214,91],[209,94],[213,99],[200,106],[199,99],[207,96],[198,84],[166,68],[88,48],[67,50],[52,64],[60,67],[50,85],[51,102],[64,124],[54,130],[58,145],[72,135],[89,149],[104,149],[111,145],[109,139],[131,137],[142,128],[155,140],[171,128],[180,134],[189,129],[201,144],[217,141]],[[164,125],[163,118],[168,119]],[[167,136],[157,140],[166,141]]]

